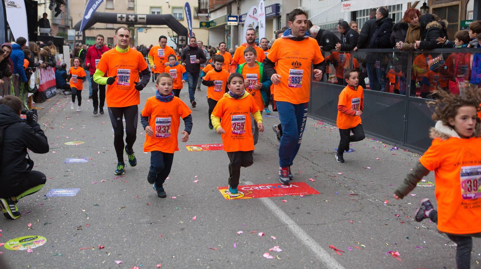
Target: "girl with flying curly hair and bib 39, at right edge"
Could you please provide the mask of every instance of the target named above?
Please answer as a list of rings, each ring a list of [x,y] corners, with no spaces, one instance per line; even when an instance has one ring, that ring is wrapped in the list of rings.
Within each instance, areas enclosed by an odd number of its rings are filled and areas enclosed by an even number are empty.
[[[399,199],[410,193],[423,176],[434,171],[438,211],[429,198],[422,198],[415,220],[429,218],[438,230],[457,244],[456,266],[469,268],[472,237],[481,237],[481,126],[476,112],[480,110],[481,95],[474,89],[464,95],[435,91],[438,97],[430,129],[434,140],[404,181],[394,191]],[[438,218],[439,217],[439,218]]]

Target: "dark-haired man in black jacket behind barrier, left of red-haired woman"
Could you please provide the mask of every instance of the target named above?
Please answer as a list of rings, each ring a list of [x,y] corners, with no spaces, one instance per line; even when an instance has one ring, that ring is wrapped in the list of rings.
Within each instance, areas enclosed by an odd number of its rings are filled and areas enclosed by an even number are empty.
[[[392,49],[392,19],[388,18],[389,11],[386,7],[380,7],[376,11],[376,30],[371,37],[370,49]],[[375,91],[385,91],[386,61],[385,53],[373,53],[367,60],[367,76],[369,87]]]

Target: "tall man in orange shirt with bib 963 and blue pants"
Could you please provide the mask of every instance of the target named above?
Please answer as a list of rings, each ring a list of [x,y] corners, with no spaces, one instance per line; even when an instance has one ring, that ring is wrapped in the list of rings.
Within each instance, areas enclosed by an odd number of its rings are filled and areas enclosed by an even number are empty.
[[[311,90],[311,65],[314,76],[321,79],[326,72],[316,39],[306,32],[307,13],[294,9],[289,14],[289,29],[272,45],[264,61],[266,75],[274,83],[274,100],[282,124],[279,145],[279,181],[289,184],[292,161],[301,146],[307,120],[307,104]],[[274,69],[275,67],[275,69]]]

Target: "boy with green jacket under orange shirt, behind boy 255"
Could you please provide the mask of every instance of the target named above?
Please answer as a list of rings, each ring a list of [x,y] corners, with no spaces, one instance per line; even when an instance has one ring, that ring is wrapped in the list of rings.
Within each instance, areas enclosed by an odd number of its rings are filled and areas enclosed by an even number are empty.
[[[267,100],[266,89],[270,88],[272,82],[264,73],[264,65],[258,61],[257,51],[252,47],[244,49],[245,62],[237,67],[237,73],[244,77],[244,86],[249,94],[254,98],[255,103],[259,107],[259,111],[264,110],[265,100]],[[259,130],[257,129],[257,122],[251,117],[252,135],[254,138],[254,145],[259,139]]]

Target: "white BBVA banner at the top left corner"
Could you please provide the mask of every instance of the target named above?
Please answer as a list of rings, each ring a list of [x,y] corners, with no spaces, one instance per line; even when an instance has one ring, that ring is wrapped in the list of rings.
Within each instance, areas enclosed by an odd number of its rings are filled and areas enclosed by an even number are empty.
[[[13,38],[25,37],[28,44],[27,13],[24,0],[4,0],[7,22]]]

